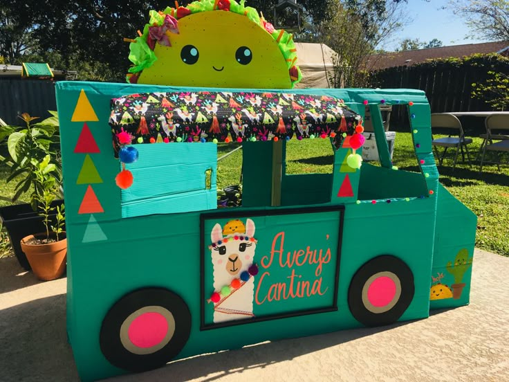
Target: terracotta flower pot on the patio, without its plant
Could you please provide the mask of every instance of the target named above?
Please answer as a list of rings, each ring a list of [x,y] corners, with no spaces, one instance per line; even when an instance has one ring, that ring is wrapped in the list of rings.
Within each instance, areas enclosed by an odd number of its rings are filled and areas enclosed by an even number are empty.
[[[28,235],[21,239],[21,249],[25,253],[33,273],[39,280],[55,280],[66,271],[67,239],[48,244],[28,244],[30,239],[46,237],[44,233]]]

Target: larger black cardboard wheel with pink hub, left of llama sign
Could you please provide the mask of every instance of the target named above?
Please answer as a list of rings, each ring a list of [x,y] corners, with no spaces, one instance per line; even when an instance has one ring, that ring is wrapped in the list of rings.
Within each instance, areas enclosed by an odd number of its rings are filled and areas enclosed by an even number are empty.
[[[179,295],[163,288],[145,288],[113,304],[102,320],[99,342],[112,365],[142,372],[171,361],[190,332],[191,313]]]

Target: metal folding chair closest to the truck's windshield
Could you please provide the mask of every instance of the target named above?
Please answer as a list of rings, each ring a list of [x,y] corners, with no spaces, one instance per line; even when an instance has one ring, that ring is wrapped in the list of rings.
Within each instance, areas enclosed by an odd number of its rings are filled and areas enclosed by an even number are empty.
[[[460,120],[449,113],[434,113],[432,114],[432,131],[433,129],[447,129],[448,131],[454,130],[454,134],[452,132],[448,137],[445,138],[437,138],[433,139],[432,145],[436,152],[436,157],[438,158],[438,163],[440,165],[443,164],[443,158],[447,149],[449,147],[456,147],[456,153],[454,154],[454,164],[452,165],[452,170],[456,168],[456,162],[458,161],[458,154],[461,150],[461,157],[463,158],[463,162],[465,162],[465,152],[467,153],[468,164],[472,167],[472,163],[470,163],[470,153],[468,152],[468,145],[472,143],[472,138],[465,138],[465,134],[463,133],[463,127],[461,127]],[[453,136],[454,135],[454,136]],[[438,147],[443,147],[442,156],[438,154]],[[465,152],[463,151],[463,147],[465,147]]]

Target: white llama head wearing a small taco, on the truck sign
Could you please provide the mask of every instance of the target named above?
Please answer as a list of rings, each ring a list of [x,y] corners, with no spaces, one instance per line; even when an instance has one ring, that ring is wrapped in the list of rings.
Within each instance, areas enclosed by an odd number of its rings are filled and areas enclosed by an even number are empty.
[[[257,241],[254,239],[254,221],[230,220],[223,228],[216,224],[210,233],[214,278],[228,283],[247,271],[253,262]]]

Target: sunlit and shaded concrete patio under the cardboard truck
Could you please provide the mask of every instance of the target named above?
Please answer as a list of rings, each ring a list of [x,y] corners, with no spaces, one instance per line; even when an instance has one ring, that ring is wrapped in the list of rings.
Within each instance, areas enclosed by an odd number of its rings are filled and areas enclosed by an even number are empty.
[[[509,381],[509,258],[476,250],[468,307],[425,320],[263,343],[110,382]],[[66,279],[0,260],[0,381],[79,381],[66,341]]]

